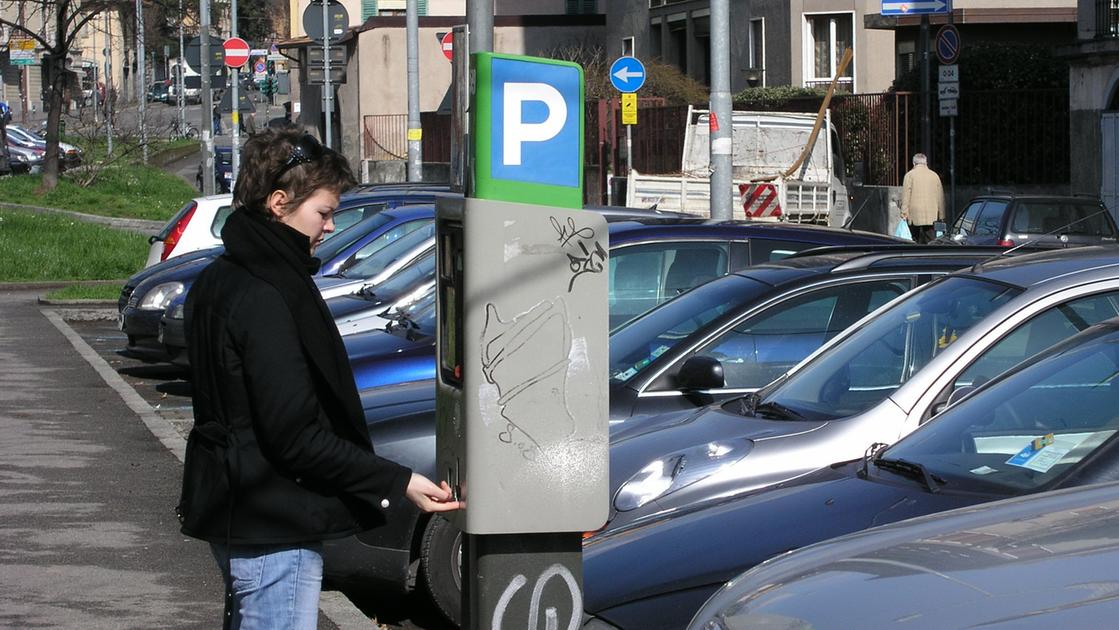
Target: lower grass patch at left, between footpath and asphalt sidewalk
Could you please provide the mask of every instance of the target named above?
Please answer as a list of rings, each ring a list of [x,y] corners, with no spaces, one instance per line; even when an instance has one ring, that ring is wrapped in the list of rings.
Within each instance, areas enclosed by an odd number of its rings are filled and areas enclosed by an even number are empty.
[[[128,278],[147,256],[148,242],[140,234],[0,209],[0,282]]]

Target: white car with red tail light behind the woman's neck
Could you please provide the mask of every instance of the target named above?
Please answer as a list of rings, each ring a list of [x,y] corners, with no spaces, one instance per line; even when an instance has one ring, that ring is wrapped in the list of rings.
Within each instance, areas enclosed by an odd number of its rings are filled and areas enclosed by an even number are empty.
[[[208,250],[222,244],[222,226],[233,211],[233,195],[195,197],[187,201],[171,220],[148,239],[145,267],[196,250]]]

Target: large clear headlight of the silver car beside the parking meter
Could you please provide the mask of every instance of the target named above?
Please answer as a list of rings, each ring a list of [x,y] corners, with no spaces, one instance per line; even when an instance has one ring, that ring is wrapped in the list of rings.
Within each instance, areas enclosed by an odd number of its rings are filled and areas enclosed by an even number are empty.
[[[614,508],[637,509],[702,481],[746,457],[753,448],[753,441],[744,438],[720,440],[656,459],[622,483],[614,496]]]

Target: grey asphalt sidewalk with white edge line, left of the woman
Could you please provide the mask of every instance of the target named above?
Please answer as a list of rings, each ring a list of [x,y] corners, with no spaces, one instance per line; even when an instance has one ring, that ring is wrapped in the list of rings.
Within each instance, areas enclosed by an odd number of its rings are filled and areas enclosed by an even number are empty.
[[[0,627],[219,627],[217,567],[173,513],[181,436],[37,297],[0,290]]]

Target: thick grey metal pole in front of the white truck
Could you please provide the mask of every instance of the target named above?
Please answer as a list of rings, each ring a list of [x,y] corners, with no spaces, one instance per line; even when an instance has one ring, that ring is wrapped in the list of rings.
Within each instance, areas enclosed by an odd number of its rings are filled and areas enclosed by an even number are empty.
[[[711,218],[732,218],[731,2],[711,2]],[[681,207],[684,200],[680,200]]]

